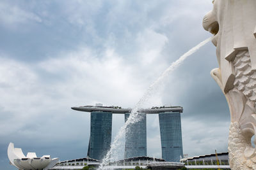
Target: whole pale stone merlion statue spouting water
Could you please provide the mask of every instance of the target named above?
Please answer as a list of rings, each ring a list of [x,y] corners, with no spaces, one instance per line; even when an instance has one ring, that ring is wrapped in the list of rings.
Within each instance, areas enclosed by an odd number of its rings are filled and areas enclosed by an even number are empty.
[[[211,76],[227,99],[231,124],[228,155],[231,169],[256,169],[256,1],[215,0],[203,20],[214,34],[220,68]],[[253,143],[256,144],[256,138]]]

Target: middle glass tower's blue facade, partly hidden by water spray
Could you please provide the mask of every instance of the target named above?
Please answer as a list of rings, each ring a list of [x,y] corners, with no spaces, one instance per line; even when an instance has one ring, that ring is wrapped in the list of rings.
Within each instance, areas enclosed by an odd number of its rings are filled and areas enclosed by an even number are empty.
[[[147,156],[147,116],[140,113],[141,120],[131,124],[125,132],[125,159]],[[130,113],[125,113],[125,122]]]

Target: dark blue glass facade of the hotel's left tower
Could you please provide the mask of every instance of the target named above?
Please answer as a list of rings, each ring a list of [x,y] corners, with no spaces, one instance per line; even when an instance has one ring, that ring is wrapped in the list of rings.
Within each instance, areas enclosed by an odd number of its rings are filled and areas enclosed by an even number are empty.
[[[88,157],[102,160],[111,145],[112,113],[92,111]]]

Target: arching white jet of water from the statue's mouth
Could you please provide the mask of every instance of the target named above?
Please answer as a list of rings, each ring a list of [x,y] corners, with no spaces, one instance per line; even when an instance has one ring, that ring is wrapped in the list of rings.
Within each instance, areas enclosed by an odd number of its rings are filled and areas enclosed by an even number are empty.
[[[211,41],[212,38],[207,38],[198,45],[191,48],[188,52],[184,53],[178,60],[175,60],[175,62],[172,62],[171,66],[168,67],[159,78],[157,78],[154,83],[150,85],[150,87],[147,89],[147,92],[141,97],[140,101],[136,104],[136,106],[132,109],[131,114],[125,124],[121,127],[121,129],[118,131],[118,134],[116,135],[113,143],[111,143],[110,149],[105,157],[105,159],[102,160],[102,164],[100,164],[99,169],[104,169],[104,165],[108,165],[108,162],[112,162],[115,160],[118,160],[118,155],[116,153],[116,150],[122,145],[122,142],[120,142],[120,139],[122,139],[125,135],[125,132],[127,132],[127,127],[131,124],[134,124],[136,122],[139,122],[140,117],[140,109],[142,108],[143,104],[148,101],[148,99],[154,94],[157,89],[159,89],[159,86],[163,83],[164,79],[172,73],[173,70],[175,70],[182,62],[189,57],[189,55],[195,53],[197,50],[199,50],[202,46],[204,46],[206,43]]]

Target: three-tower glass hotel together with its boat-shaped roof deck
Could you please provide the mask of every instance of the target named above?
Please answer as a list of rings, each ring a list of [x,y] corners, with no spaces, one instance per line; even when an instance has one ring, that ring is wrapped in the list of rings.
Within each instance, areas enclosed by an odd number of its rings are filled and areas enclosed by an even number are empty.
[[[98,160],[103,159],[111,145],[112,115],[124,114],[126,122],[131,113],[131,108],[107,107],[102,106],[102,104],[72,107],[72,109],[91,113],[90,141],[87,155]],[[131,124],[129,131],[125,133],[125,159],[147,156],[147,114],[158,114],[162,158],[170,162],[179,162],[180,156],[183,157],[180,124],[180,113],[182,111],[183,108],[179,106],[153,107],[140,110],[140,121]]]

